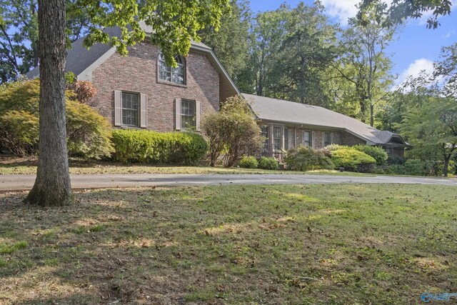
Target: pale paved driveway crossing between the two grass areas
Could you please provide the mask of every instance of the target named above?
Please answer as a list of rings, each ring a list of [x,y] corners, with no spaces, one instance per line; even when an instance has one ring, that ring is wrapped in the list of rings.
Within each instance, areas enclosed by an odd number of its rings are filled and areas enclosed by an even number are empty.
[[[0,175],[0,191],[29,190],[34,175]],[[457,186],[457,179],[406,176],[333,176],[306,174],[85,174],[71,175],[74,189],[122,186],[226,184],[436,184]]]

